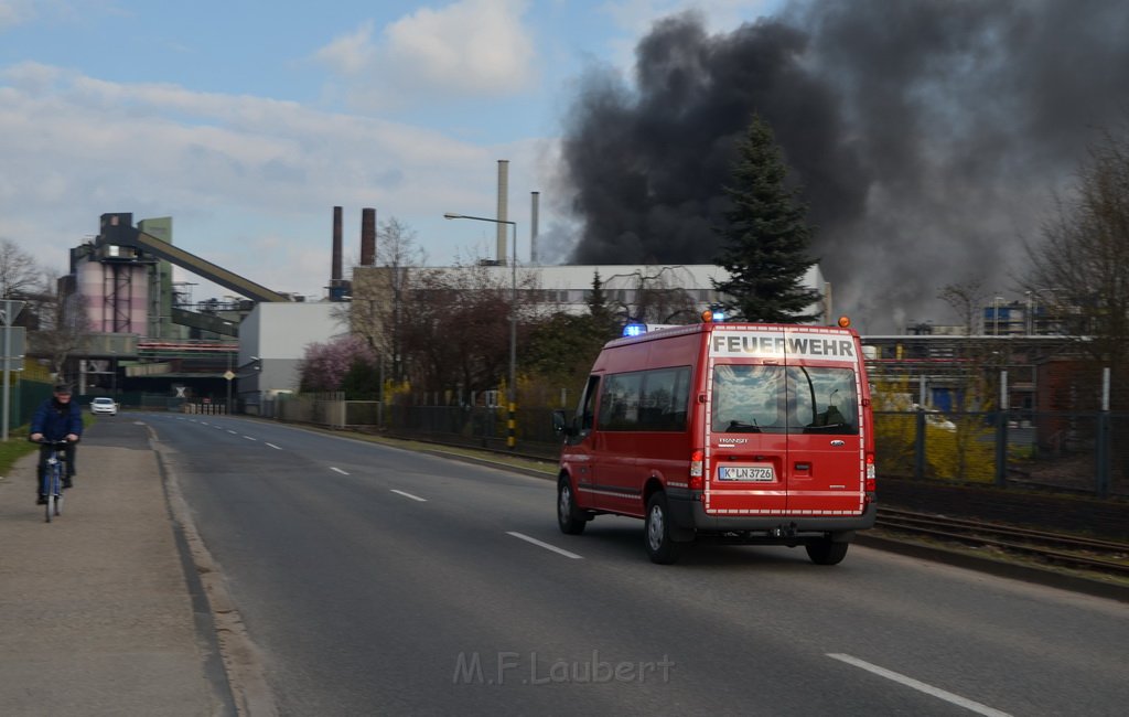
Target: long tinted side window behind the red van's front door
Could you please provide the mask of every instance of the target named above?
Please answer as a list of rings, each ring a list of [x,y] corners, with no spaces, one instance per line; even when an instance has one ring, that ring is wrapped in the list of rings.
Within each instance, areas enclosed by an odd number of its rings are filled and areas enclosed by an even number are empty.
[[[690,367],[656,368],[604,378],[601,430],[684,431]]]

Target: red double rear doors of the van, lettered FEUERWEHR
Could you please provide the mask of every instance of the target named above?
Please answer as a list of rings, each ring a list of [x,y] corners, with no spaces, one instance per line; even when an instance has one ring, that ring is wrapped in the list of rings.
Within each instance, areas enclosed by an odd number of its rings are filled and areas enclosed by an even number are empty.
[[[869,427],[852,334],[727,326],[709,341],[706,511],[860,514]]]

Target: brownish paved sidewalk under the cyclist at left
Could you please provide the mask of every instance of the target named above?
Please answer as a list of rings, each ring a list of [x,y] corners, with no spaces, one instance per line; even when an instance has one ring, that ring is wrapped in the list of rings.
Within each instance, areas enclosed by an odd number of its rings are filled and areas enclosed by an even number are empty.
[[[0,478],[0,715],[234,715],[145,429],[95,428],[50,524]]]

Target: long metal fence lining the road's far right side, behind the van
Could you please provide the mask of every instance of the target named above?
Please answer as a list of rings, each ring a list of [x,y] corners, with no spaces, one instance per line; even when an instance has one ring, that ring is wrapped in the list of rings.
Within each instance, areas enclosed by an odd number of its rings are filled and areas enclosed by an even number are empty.
[[[517,453],[549,460],[560,455],[552,411],[518,406]],[[504,406],[382,405],[331,393],[287,396],[263,413],[401,438],[506,447]],[[874,432],[879,478],[1129,497],[1129,413],[876,411]]]

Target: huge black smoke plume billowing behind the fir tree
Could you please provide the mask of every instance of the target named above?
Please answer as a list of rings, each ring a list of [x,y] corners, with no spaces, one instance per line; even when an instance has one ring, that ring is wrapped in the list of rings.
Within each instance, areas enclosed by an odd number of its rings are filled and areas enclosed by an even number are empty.
[[[1050,198],[1129,102],[1123,0],[794,2],[711,35],[657,23],[633,82],[593,69],[566,121],[571,263],[714,263],[735,141],[776,132],[837,313],[948,323],[972,279],[1008,297]],[[947,321],[946,321],[947,320]]]

